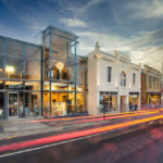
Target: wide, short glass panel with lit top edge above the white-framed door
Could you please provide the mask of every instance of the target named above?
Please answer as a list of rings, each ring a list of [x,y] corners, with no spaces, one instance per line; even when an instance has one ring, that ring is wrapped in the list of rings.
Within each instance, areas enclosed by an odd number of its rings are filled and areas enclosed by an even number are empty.
[[[5,89],[23,90],[24,84],[23,84],[23,82],[5,82]]]

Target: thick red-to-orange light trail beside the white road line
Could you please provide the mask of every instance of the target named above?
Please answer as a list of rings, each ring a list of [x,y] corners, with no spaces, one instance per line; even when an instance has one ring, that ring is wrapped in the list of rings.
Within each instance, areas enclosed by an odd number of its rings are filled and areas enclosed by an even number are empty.
[[[75,138],[90,136],[90,135],[110,131],[110,130],[114,130],[114,129],[121,129],[124,127],[129,127],[133,125],[147,123],[150,121],[155,121],[155,120],[161,120],[161,118],[163,118],[163,115],[125,122],[122,124],[115,124],[115,125],[110,125],[110,126],[104,126],[104,127],[86,129],[86,130],[82,130],[82,131],[74,131],[74,133],[50,136],[50,137],[45,137],[45,138],[34,139],[34,140],[27,140],[27,141],[17,142],[17,143],[11,143],[11,145],[0,147],[0,152],[7,152],[7,151],[9,152],[9,151],[17,150],[17,149],[23,149],[23,148],[29,148],[29,147],[42,146],[46,143],[52,143],[52,142],[59,142],[59,141],[63,141],[63,140],[75,139]]]

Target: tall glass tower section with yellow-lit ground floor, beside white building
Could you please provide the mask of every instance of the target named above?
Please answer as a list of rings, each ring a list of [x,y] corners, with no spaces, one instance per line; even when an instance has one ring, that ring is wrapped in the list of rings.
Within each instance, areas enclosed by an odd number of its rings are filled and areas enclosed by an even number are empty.
[[[77,55],[78,37],[48,27],[43,32],[43,114],[65,116],[86,111],[87,60]]]

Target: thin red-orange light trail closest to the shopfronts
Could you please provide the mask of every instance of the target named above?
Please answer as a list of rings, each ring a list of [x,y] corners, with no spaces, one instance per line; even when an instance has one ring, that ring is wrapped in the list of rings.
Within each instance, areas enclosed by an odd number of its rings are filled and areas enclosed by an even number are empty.
[[[112,113],[112,114],[105,114],[105,116],[114,116],[114,115],[124,115],[124,114],[135,114],[135,113],[146,113],[146,112],[155,112],[155,110],[153,111],[135,111],[135,112],[124,112],[124,113]],[[93,117],[102,117],[103,114],[100,115],[87,115],[87,116],[78,116],[78,117],[62,117],[62,118],[48,118],[48,120],[35,120],[35,121],[29,121],[29,122],[25,122],[25,123],[39,123],[39,122],[57,122],[57,121],[67,121],[67,120],[80,120],[80,118],[93,118]]]

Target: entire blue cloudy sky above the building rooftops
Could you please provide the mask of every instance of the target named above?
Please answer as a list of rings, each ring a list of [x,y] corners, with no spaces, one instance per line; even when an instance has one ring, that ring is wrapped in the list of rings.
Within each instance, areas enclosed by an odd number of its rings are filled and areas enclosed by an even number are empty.
[[[48,25],[79,36],[79,54],[128,54],[161,71],[163,0],[0,0],[0,35],[35,42]]]

